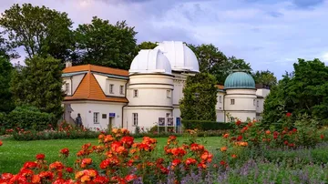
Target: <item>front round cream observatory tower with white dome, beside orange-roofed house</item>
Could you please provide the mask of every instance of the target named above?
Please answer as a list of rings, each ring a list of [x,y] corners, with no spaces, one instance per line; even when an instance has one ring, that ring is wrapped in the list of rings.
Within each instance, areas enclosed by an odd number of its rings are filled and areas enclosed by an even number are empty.
[[[141,50],[130,66],[125,122],[130,131],[152,128],[172,114],[173,76],[169,59],[159,49]]]

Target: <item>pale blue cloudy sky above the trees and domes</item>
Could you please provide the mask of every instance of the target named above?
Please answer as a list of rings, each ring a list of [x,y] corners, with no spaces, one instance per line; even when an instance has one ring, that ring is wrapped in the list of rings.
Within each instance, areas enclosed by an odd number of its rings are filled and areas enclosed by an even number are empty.
[[[297,58],[328,63],[328,0],[1,0],[0,12],[15,3],[67,12],[75,27],[95,15],[126,20],[138,43],[211,43],[278,78]]]

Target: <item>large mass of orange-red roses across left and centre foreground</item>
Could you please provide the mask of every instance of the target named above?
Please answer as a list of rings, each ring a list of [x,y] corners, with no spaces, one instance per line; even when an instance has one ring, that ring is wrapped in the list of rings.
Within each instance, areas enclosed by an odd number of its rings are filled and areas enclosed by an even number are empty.
[[[59,151],[62,158],[48,164],[42,153],[36,161],[26,161],[17,174],[3,173],[0,183],[128,183],[136,179],[144,183],[159,183],[175,174],[179,183],[185,171],[205,170],[210,166],[212,154],[190,139],[189,144],[179,144],[170,136],[163,158],[154,155],[155,138],[144,137],[135,142],[127,129],[113,128],[110,134],[98,136],[98,145],[87,143],[77,152],[74,166],[68,166],[68,148]],[[99,164],[94,162],[100,160]]]

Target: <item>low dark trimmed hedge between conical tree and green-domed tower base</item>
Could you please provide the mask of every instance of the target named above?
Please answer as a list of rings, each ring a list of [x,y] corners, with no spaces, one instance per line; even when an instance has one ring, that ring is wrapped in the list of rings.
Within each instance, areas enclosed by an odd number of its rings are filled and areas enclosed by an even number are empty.
[[[200,129],[200,130],[220,130],[231,129],[233,124],[216,121],[200,121],[200,120],[182,120],[182,125],[186,129]]]

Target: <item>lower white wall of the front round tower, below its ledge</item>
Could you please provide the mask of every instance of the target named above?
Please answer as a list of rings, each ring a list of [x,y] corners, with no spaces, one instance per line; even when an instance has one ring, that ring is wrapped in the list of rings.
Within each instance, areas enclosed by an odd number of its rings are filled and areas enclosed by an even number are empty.
[[[130,132],[135,132],[136,127],[133,126],[133,113],[138,113],[138,127],[152,128],[158,125],[159,118],[165,118],[167,113],[172,114],[171,108],[161,107],[125,107],[124,108],[124,128],[128,128]],[[175,119],[174,119],[175,120]]]

